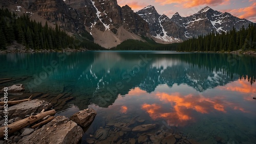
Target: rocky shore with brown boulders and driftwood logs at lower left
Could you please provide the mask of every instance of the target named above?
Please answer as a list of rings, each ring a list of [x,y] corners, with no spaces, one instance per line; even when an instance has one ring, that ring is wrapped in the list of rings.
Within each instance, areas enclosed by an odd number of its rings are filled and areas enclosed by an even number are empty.
[[[3,95],[4,90],[1,90]],[[23,92],[23,84],[14,84],[8,87],[8,94],[17,95]],[[21,96],[26,96],[26,94]],[[62,96],[64,95],[62,94]],[[35,97],[38,95],[35,94]],[[30,98],[11,100],[10,98],[8,97],[7,114],[5,112],[7,105],[4,105],[7,98],[1,98],[0,133],[3,134],[0,137],[3,139],[0,140],[0,143],[78,143],[84,133],[83,128],[88,127],[96,116],[96,111],[88,108],[74,113],[70,118],[48,115],[39,119],[40,114],[49,111],[54,115],[55,107],[45,100],[30,100]],[[7,133],[4,132],[6,127],[8,127]]]

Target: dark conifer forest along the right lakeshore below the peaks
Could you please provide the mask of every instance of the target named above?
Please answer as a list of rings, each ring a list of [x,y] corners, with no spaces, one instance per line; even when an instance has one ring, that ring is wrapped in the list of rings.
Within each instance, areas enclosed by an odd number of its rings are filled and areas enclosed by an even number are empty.
[[[237,31],[234,27],[231,31],[222,34],[214,33],[198,38],[190,38],[178,45],[179,51],[236,51],[256,50],[256,25],[249,24]]]

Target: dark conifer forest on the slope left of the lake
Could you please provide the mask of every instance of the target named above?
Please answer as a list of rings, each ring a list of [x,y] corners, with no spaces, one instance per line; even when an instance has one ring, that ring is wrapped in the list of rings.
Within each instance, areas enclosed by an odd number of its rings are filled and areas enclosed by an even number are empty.
[[[103,49],[92,41],[81,38],[69,36],[57,24],[55,28],[48,26],[47,22],[42,26],[26,14],[17,16],[8,9],[0,9],[0,49],[6,49],[6,46],[15,41],[31,49]]]

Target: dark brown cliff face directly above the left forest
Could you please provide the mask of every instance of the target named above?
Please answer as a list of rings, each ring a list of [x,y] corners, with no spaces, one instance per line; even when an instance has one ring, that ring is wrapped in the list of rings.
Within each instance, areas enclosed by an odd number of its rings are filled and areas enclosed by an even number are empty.
[[[37,14],[53,24],[57,23],[63,30],[72,33],[85,32],[82,21],[79,21],[79,14],[72,15],[74,10],[69,9],[62,0],[17,0],[16,3],[28,12]]]

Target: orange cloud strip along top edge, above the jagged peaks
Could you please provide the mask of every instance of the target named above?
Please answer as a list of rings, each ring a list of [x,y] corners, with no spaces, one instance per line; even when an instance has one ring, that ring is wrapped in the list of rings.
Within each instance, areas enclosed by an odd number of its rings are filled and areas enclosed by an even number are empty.
[[[155,0],[156,3],[160,3],[160,5],[166,5],[166,4],[183,4],[184,8],[191,8],[201,5],[208,5],[208,6],[216,6],[216,5],[225,5],[229,2],[229,0],[206,0],[206,1],[200,1],[200,0]]]

